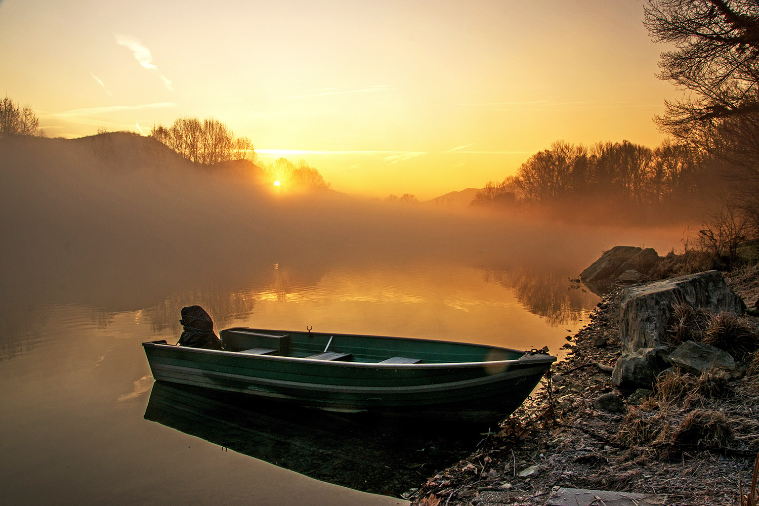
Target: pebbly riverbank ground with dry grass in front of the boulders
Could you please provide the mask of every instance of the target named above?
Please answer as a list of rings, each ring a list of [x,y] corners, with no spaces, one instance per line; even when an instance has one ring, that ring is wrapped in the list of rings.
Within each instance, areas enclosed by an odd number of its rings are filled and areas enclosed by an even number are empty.
[[[748,306],[759,266],[726,273]],[[543,506],[555,487],[641,492],[657,504],[740,504],[759,452],[759,352],[745,375],[660,377],[653,391],[620,391],[621,289],[603,297],[571,338],[553,377],[465,460],[436,473],[412,504]],[[742,320],[759,332],[759,318]]]

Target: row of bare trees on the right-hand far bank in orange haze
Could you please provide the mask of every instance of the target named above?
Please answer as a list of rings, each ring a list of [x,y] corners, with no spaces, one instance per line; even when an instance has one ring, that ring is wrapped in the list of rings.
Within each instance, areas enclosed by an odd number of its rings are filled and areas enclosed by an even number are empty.
[[[669,141],[656,149],[626,140],[590,148],[558,141],[514,176],[486,184],[471,205],[563,210],[572,204],[638,217],[682,211],[712,194],[712,164],[703,151]]]

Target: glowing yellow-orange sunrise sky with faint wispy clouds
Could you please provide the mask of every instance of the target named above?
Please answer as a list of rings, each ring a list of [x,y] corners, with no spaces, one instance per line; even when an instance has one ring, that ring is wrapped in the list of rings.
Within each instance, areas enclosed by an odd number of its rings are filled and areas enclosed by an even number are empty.
[[[50,137],[212,116],[335,190],[424,200],[556,140],[663,140],[635,0],[0,0],[0,76]]]

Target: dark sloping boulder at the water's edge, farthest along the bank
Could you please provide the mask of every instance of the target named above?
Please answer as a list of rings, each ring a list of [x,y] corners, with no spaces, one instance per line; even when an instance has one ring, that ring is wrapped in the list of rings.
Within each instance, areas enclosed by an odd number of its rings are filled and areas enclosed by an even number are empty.
[[[594,293],[603,294],[613,284],[640,281],[642,273],[659,259],[659,254],[651,248],[615,246],[581,272],[580,281]]]

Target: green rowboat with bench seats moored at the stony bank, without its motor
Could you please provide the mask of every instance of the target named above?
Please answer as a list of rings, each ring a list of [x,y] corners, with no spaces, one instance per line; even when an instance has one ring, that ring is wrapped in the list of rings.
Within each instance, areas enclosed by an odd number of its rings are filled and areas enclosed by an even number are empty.
[[[556,357],[545,350],[235,327],[223,350],[143,343],[153,378],[329,411],[494,421]]]

